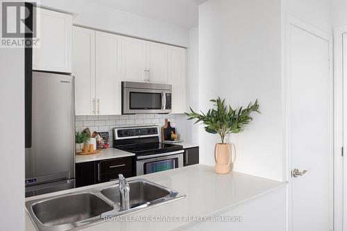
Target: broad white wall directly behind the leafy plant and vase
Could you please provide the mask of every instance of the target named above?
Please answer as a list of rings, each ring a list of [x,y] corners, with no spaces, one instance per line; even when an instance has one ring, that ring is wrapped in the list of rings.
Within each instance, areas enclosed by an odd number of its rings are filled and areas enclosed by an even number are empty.
[[[277,0],[210,0],[199,8],[199,104],[221,96],[260,112],[230,142],[235,171],[282,180],[281,6]],[[201,163],[214,164],[217,135],[199,132]]]

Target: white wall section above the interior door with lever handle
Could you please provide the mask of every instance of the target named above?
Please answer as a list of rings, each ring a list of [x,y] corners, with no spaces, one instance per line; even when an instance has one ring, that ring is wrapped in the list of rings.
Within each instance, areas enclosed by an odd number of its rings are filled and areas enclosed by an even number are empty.
[[[282,0],[282,4],[285,12],[331,33],[332,0]],[[345,15],[346,10],[344,8]]]

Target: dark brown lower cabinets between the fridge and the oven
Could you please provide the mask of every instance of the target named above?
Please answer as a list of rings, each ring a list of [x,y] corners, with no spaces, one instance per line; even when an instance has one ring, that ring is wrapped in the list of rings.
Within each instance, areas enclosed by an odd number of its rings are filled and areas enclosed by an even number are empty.
[[[136,175],[134,157],[76,164],[76,187],[117,180],[119,174],[126,178]]]

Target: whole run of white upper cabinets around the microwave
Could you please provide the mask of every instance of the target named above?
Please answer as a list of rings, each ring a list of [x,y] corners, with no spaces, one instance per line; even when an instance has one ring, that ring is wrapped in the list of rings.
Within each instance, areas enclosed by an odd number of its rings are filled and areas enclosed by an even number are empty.
[[[186,49],[74,26],[76,115],[121,114],[121,81],[172,85],[172,113],[187,110]]]

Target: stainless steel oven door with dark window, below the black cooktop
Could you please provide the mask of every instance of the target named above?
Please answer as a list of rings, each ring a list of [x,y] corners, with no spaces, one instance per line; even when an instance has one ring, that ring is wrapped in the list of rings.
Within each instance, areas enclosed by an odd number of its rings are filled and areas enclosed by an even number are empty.
[[[183,167],[184,151],[137,157],[136,176]]]

